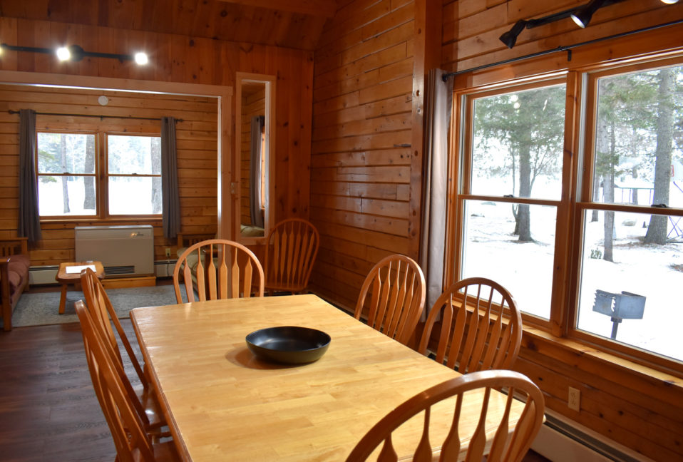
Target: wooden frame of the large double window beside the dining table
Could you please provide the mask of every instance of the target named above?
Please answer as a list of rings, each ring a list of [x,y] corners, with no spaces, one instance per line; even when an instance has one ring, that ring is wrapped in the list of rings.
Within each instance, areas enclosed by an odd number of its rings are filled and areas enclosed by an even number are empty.
[[[567,98],[565,106],[565,162],[563,165],[563,195],[559,201],[550,201],[548,205],[558,207],[558,222],[555,234],[555,272],[553,274],[553,291],[551,316],[548,322],[523,313],[525,325],[538,327],[558,337],[570,337],[584,344],[599,347],[612,354],[622,356],[630,361],[636,361],[647,366],[657,366],[683,376],[683,361],[672,360],[652,351],[645,351],[637,347],[612,342],[610,339],[598,337],[595,334],[577,329],[578,291],[580,284],[580,265],[582,249],[582,217],[585,210],[614,210],[640,212],[649,215],[671,215],[683,217],[683,210],[677,208],[658,209],[638,205],[612,204],[592,202],[591,183],[593,158],[591,144],[595,133],[595,111],[597,99],[592,87],[592,81],[602,76],[618,75],[639,70],[648,70],[664,66],[680,66],[682,56],[672,58],[652,55],[647,57],[625,60],[625,63],[610,63],[610,67],[597,63],[595,66],[585,66],[576,69],[568,68],[560,78],[558,73],[548,73],[554,79],[543,80],[544,76],[527,78],[518,84],[515,81],[487,84],[486,88],[463,88],[454,92],[453,118],[451,125],[451,205],[448,210],[448,242],[446,250],[450,264],[446,272],[446,285],[455,282],[461,270],[462,242],[463,242],[463,201],[464,200],[495,200],[498,202],[528,202],[543,204],[545,201],[522,199],[519,197],[494,197],[486,195],[470,195],[469,182],[471,166],[472,125],[471,120],[473,98],[481,96],[509,93],[517,88],[529,86],[550,85],[558,81],[567,84]],[[476,78],[473,79],[476,81]],[[513,294],[514,295],[514,294]],[[618,337],[617,337],[618,338]]]

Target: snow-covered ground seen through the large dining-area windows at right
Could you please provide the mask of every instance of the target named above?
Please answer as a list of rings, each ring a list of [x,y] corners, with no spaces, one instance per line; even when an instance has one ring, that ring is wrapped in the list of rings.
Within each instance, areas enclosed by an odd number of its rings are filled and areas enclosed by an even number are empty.
[[[520,243],[512,234],[515,223],[510,204],[468,201],[463,277],[494,279],[513,294],[520,309],[547,319],[556,210],[536,205],[530,211],[535,242]],[[617,341],[683,359],[679,337],[683,325],[683,238],[664,246],[642,245],[646,232],[642,225],[649,222],[649,215],[616,213],[614,262],[591,258],[593,250],[604,252],[604,214],[598,215],[599,221],[589,221],[585,227],[579,329],[607,338],[612,333],[610,317],[592,311],[596,289],[643,295],[643,319],[625,319],[618,327]],[[676,222],[676,217],[672,218]],[[683,225],[683,219],[678,225]]]

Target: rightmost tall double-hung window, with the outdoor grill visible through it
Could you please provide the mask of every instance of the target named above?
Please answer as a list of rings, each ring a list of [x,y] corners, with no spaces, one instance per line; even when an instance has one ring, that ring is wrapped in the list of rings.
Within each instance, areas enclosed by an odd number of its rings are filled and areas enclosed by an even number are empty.
[[[683,360],[683,66],[618,71],[587,76],[577,328]]]

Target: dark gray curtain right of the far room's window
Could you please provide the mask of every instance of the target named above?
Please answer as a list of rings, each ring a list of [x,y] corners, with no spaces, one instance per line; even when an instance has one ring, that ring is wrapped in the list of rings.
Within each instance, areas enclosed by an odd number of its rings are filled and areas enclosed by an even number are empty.
[[[164,237],[175,239],[180,232],[178,155],[175,150],[175,118],[161,118],[161,195]]]

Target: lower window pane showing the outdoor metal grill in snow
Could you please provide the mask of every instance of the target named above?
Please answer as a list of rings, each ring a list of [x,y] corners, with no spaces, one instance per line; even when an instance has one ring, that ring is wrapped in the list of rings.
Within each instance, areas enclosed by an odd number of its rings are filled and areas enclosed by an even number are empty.
[[[665,245],[643,242],[653,218]],[[683,217],[587,210],[578,329],[683,360],[682,226]]]

